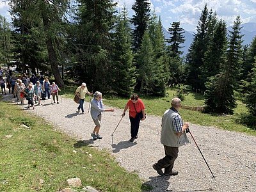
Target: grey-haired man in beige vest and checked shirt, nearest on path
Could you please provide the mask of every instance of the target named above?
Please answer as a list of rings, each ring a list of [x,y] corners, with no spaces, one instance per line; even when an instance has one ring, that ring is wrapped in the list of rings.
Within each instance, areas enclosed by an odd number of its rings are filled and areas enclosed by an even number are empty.
[[[186,135],[188,122],[183,124],[179,114],[181,100],[179,98],[172,99],[172,108],[164,112],[162,118],[161,143],[164,145],[165,157],[153,164],[154,170],[159,175],[177,175],[178,172],[173,170],[173,164],[178,157],[179,147],[189,143]],[[162,169],[164,168],[164,172]]]

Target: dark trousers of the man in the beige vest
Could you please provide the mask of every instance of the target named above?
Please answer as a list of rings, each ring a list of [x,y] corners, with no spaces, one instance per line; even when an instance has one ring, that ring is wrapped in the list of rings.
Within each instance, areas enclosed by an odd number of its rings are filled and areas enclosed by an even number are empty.
[[[164,168],[164,173],[172,172],[175,159],[178,157],[179,147],[169,147],[164,145],[165,157],[157,161],[156,166],[159,169]]]

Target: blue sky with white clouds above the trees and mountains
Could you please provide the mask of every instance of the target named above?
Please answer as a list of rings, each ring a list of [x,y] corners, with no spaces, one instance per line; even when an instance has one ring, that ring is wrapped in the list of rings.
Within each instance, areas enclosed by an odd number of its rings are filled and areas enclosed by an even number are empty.
[[[134,0],[113,0],[118,2],[118,7],[126,6],[129,16],[132,16],[131,6]],[[241,16],[243,23],[256,23],[256,0],[148,0],[151,3],[151,10],[156,10],[161,15],[163,26],[170,28],[170,23],[180,21],[182,28],[187,31],[195,31],[198,19],[202,13],[205,3],[209,9],[212,8],[220,19],[227,22],[227,26],[232,26],[237,15]],[[8,18],[8,3],[0,0],[0,15]]]

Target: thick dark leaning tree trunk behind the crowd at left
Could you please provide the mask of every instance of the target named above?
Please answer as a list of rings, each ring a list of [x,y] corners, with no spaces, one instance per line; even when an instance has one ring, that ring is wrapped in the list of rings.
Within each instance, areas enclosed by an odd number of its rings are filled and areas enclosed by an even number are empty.
[[[61,79],[60,71],[58,69],[57,54],[53,47],[51,35],[49,34],[49,19],[45,14],[43,14],[43,23],[44,23],[44,32],[45,32],[45,43],[47,46],[52,73],[55,79],[55,83],[58,84],[58,86],[62,87],[64,86],[64,81],[63,79]]]

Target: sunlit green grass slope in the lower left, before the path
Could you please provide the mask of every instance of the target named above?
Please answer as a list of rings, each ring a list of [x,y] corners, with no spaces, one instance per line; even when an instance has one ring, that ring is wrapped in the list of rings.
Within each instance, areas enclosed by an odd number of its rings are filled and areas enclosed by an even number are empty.
[[[21,129],[22,124],[29,129]],[[99,191],[150,189],[108,152],[54,131],[42,118],[1,101],[0,137],[0,191],[58,191],[73,177]]]

